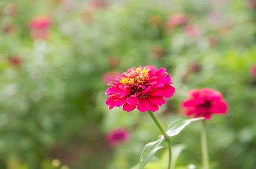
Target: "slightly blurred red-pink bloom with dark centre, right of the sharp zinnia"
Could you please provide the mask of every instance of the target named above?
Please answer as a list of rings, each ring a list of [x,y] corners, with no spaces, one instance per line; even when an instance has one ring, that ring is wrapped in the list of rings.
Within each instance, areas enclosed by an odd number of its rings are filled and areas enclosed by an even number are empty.
[[[212,118],[212,114],[227,114],[227,102],[220,92],[203,88],[194,89],[189,93],[189,99],[182,103],[182,113],[187,116]]]

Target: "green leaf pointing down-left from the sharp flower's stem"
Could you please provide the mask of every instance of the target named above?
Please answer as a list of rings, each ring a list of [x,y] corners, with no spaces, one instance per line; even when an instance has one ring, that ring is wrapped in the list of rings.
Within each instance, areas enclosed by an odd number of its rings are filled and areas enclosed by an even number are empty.
[[[150,159],[153,157],[154,153],[157,152],[157,150],[163,148],[165,145],[162,144],[164,141],[164,138],[160,138],[157,141],[153,141],[151,143],[148,143],[143,152],[140,156],[140,164],[139,169],[144,169],[147,163],[150,161]]]

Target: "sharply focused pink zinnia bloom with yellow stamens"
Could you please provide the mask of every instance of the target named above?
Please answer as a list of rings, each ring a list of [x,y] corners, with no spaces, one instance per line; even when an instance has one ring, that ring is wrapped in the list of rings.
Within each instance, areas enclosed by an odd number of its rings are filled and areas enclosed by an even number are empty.
[[[105,94],[110,97],[106,104],[113,107],[123,106],[124,111],[132,111],[136,107],[140,112],[158,110],[158,106],[165,104],[163,98],[170,98],[175,93],[175,88],[170,74],[166,68],[158,69],[154,66],[131,68],[116,78],[115,82],[108,85]]]

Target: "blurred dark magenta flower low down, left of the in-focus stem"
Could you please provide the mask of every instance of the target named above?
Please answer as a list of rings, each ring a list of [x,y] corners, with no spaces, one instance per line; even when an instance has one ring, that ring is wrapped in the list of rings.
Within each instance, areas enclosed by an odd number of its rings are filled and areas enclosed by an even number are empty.
[[[111,146],[119,146],[125,144],[129,138],[130,132],[124,128],[112,130],[107,134],[107,141]]]

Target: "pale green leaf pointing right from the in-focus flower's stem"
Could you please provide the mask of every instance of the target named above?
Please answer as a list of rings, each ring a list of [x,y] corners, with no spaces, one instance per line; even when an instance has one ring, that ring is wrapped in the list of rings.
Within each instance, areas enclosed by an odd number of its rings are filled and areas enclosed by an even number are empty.
[[[166,134],[169,137],[175,136],[175,135],[179,134],[181,132],[181,130],[183,130],[187,125],[189,125],[190,122],[197,121],[197,120],[203,120],[203,119],[204,119],[203,117],[191,118],[188,120],[178,119],[168,126]]]

